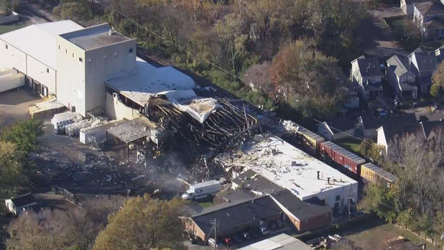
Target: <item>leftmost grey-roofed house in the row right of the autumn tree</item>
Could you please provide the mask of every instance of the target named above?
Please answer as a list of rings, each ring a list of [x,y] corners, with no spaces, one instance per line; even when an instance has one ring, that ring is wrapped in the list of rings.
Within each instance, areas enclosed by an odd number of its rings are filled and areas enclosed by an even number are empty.
[[[376,58],[359,58],[352,61],[350,81],[355,84],[358,93],[364,99],[375,99],[382,96],[382,70]]]

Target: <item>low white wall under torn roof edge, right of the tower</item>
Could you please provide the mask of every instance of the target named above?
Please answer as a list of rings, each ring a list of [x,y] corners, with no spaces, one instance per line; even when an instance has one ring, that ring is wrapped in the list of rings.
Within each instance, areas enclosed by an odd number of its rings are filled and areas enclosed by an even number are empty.
[[[105,113],[111,119],[131,120],[141,116],[139,110],[135,110],[121,103],[117,97],[113,97],[109,92],[106,92],[105,98]]]

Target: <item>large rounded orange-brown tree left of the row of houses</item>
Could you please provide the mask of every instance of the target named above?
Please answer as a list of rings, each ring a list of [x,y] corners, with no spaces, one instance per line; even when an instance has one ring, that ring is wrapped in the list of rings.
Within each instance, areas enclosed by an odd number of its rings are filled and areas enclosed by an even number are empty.
[[[272,95],[305,117],[331,113],[342,101],[341,69],[336,60],[316,51],[309,40],[297,40],[273,58]]]

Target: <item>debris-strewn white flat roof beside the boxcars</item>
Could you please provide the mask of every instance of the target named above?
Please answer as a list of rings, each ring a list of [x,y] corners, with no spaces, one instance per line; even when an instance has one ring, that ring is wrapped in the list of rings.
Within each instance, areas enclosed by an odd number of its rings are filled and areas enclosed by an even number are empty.
[[[234,162],[248,165],[269,181],[291,190],[301,200],[309,199],[323,191],[357,183],[277,136],[269,136],[259,142],[249,142],[244,154]],[[327,183],[329,177],[330,184]]]

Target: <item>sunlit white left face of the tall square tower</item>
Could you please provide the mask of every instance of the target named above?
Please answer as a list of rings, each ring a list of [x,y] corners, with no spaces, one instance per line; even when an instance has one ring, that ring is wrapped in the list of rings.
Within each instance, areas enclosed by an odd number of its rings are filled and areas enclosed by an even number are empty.
[[[77,113],[85,116],[85,51],[60,36],[56,50],[57,100],[71,110],[75,107]]]

